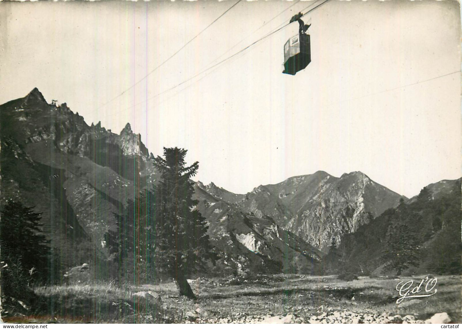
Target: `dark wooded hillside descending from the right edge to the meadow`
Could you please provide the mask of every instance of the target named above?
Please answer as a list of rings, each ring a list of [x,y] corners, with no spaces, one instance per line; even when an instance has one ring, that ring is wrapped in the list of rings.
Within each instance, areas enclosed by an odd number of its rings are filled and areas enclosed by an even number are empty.
[[[407,272],[460,274],[461,181],[443,180],[428,185],[409,203],[386,210],[346,235],[339,247],[342,262],[357,273],[393,274],[384,256],[391,247],[387,237],[390,227],[399,224],[407,227],[406,232],[401,232],[401,240],[412,238],[418,246],[418,264]]]

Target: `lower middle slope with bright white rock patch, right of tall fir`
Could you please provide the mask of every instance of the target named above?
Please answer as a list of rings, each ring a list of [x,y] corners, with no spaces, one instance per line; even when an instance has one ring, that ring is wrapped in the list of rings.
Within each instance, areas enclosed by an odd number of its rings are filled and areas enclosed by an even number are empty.
[[[268,216],[256,217],[195,185],[198,209],[207,218],[209,235],[225,273],[318,273],[322,253]]]

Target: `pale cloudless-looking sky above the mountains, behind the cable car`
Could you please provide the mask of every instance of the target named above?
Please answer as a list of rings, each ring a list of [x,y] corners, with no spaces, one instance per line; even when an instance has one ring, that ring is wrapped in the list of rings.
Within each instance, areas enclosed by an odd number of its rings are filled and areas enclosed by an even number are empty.
[[[156,69],[236,2],[2,2],[0,103],[37,87],[237,193],[359,170],[412,197],[462,176],[458,2],[330,0],[305,17],[297,75],[281,73],[293,23],[183,83],[321,2],[243,0]]]

